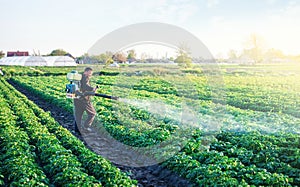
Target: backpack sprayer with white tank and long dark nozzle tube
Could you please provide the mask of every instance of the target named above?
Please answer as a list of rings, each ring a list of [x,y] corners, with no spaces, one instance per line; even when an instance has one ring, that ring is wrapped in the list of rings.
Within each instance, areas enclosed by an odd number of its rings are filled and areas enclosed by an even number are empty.
[[[82,75],[79,74],[77,71],[73,70],[70,73],[67,74],[67,79],[70,81],[70,84],[66,85],[66,97],[69,99],[75,99],[80,98],[84,96],[98,96],[103,97],[107,99],[114,99],[118,100],[118,97],[105,95],[105,94],[99,94],[95,93],[94,91],[91,92],[81,92],[80,90],[80,80],[82,78]],[[98,86],[97,86],[98,88]]]

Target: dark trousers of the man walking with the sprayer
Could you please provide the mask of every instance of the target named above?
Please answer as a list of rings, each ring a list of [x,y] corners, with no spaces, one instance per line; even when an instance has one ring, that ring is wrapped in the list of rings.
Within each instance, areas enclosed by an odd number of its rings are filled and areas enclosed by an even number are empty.
[[[80,99],[74,99],[74,118],[75,118],[75,131],[78,131],[78,126],[82,126],[81,120],[84,111],[87,113],[87,119],[85,120],[83,126],[88,127],[90,126],[94,118],[96,116],[96,110],[91,103],[91,101],[87,100],[80,100]]]

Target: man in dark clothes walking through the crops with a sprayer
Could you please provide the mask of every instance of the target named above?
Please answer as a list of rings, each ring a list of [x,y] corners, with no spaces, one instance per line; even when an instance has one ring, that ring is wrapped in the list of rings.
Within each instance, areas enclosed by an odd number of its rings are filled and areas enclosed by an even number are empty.
[[[90,67],[85,68],[82,78],[80,80],[81,92],[96,91],[97,87],[90,86],[90,78],[93,75],[93,69]],[[86,131],[91,131],[91,124],[94,121],[96,110],[91,103],[91,96],[82,96],[74,99],[74,116],[75,116],[75,132],[79,132],[78,126],[81,127],[81,120],[84,111],[87,113],[87,119],[85,120],[83,127]]]

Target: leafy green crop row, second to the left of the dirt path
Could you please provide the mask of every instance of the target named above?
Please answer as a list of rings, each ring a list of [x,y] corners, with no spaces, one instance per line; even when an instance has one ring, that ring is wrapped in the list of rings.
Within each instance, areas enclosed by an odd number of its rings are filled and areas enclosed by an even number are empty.
[[[78,159],[65,149],[58,139],[47,128],[39,123],[39,119],[32,110],[27,108],[16,95],[1,83],[1,91],[17,116],[18,125],[30,137],[30,143],[36,147],[38,157],[43,165],[44,172],[52,179],[55,185],[68,186],[99,185],[93,176],[89,176]]]

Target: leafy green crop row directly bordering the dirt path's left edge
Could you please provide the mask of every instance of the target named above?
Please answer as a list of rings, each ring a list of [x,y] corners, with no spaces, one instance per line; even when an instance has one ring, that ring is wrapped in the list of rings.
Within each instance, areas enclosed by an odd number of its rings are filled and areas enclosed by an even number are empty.
[[[41,108],[24,97],[24,95],[20,93],[16,94],[33,110],[35,115],[40,119],[41,124],[45,125],[51,133],[56,135],[62,145],[65,148],[70,149],[72,153],[78,157],[81,163],[86,164],[84,167],[88,170],[89,174],[100,179],[105,186],[131,186],[136,182],[131,181],[127,175],[122,173],[118,168],[112,166],[109,161],[86,148],[80,140],[74,137],[67,129],[59,125],[48,112],[44,112]]]

